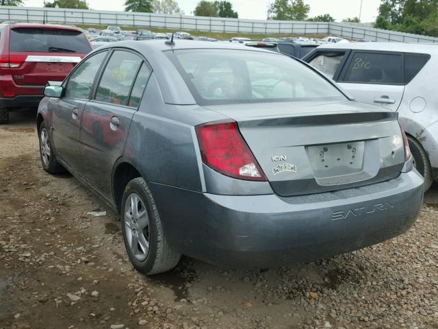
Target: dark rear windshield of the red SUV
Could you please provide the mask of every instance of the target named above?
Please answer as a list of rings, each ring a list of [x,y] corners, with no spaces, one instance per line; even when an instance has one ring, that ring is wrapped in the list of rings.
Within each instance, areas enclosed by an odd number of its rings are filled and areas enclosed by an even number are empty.
[[[11,29],[10,51],[41,53],[89,53],[91,51],[85,34],[68,29],[38,29],[18,27]]]

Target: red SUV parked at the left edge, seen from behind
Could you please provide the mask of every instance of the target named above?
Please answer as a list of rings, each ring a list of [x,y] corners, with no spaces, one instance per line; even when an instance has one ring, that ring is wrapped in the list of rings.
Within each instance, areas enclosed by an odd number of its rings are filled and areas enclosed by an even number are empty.
[[[81,29],[61,25],[0,25],[0,123],[12,108],[37,107],[49,81],[63,81],[92,50]]]

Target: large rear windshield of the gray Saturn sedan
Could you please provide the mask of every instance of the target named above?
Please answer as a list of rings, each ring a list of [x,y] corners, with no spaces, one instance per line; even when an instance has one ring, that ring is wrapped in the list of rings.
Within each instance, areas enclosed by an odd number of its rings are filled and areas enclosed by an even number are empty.
[[[279,53],[193,49],[166,55],[200,105],[346,99],[318,73]]]

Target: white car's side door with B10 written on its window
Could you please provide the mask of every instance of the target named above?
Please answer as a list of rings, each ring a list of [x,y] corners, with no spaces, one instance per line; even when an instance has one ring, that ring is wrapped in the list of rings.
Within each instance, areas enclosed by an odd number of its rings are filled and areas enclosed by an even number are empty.
[[[337,82],[357,101],[397,110],[404,93],[404,55],[353,51]]]

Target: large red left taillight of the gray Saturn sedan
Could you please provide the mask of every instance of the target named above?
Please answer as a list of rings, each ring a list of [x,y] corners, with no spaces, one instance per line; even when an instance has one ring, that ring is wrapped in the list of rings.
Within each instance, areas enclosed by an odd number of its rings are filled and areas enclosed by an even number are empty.
[[[198,125],[196,135],[203,162],[207,166],[241,180],[266,181],[235,121]]]

